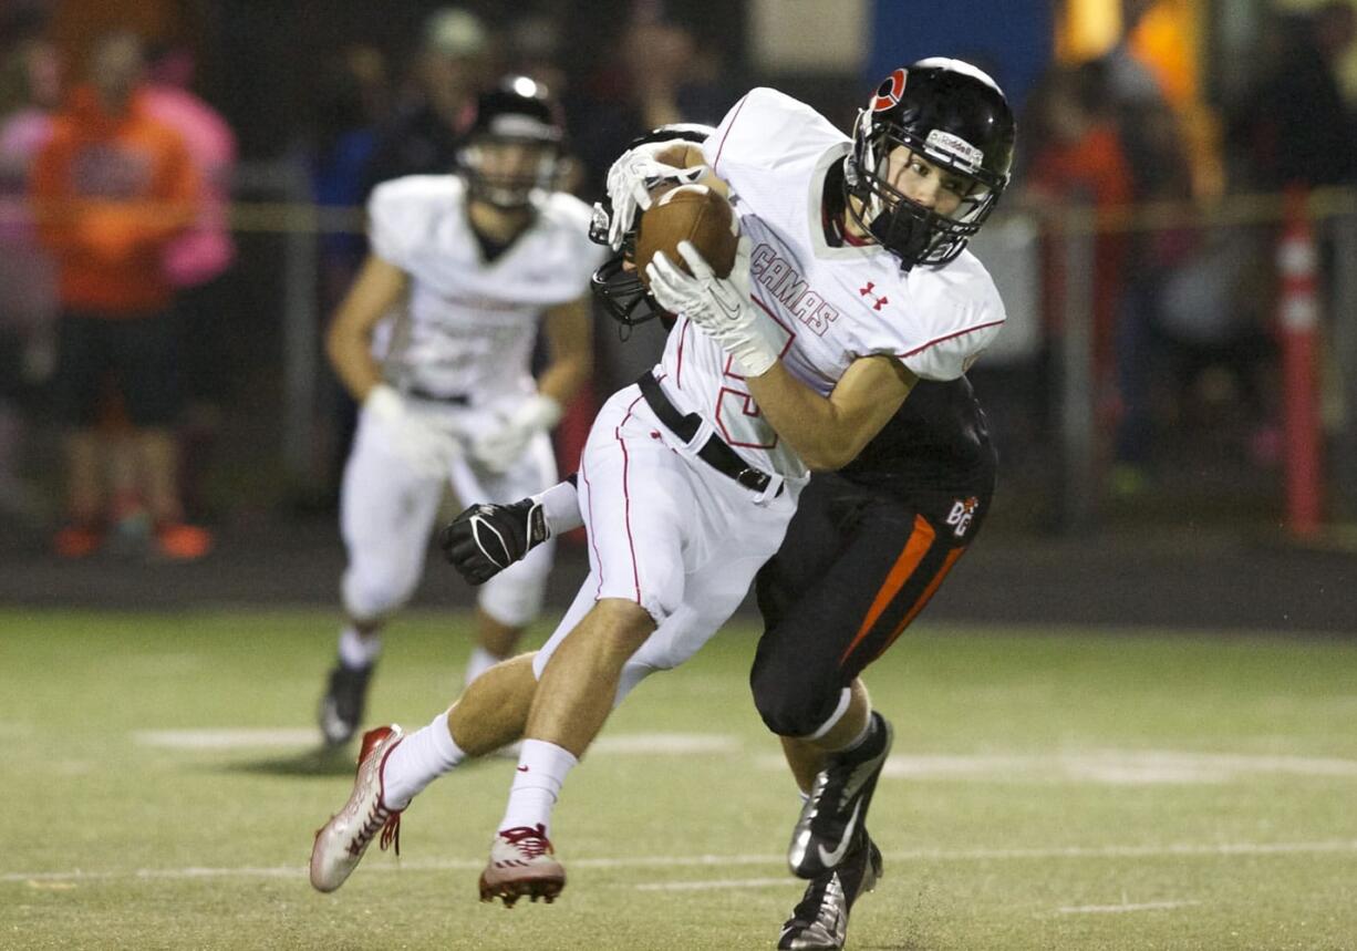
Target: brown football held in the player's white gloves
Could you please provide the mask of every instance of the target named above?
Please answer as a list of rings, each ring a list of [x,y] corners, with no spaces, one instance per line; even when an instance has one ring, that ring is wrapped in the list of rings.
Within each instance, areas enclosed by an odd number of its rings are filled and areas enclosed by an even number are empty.
[[[642,212],[636,229],[636,269],[642,285],[650,286],[646,265],[658,251],[664,251],[684,271],[688,270],[678,254],[680,241],[692,241],[716,277],[727,277],[735,266],[735,246],[740,241],[730,202],[706,185],[680,185]]]

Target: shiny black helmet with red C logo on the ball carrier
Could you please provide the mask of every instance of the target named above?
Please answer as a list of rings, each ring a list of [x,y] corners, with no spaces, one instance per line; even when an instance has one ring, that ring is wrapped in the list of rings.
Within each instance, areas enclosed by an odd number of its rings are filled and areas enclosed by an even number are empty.
[[[1016,122],[984,72],[930,58],[894,71],[858,114],[844,161],[849,214],[905,269],[961,254],[1008,186]],[[905,147],[973,187],[951,216],[911,201],[887,179],[890,153]]]

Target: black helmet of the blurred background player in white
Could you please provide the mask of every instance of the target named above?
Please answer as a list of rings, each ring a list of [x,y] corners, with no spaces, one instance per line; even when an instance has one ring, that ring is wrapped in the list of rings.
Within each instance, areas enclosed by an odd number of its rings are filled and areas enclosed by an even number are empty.
[[[560,166],[565,123],[547,87],[527,76],[506,76],[482,92],[463,123],[457,171],[471,197],[497,208],[525,206],[535,190],[551,189]],[[522,145],[517,160],[497,156],[503,145]]]

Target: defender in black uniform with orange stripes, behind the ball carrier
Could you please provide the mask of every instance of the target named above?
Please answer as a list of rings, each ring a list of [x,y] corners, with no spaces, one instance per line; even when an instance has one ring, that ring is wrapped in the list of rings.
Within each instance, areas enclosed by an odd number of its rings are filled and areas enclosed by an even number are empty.
[[[1007,144],[1000,149],[1007,180],[1015,126],[997,88],[968,84],[939,95],[928,81],[913,80],[898,114],[881,121],[896,122],[893,132],[906,142],[932,129],[963,126],[958,132],[970,138],[984,129],[985,155],[993,142]],[[700,140],[704,133],[702,126],[669,128],[642,141]],[[845,183],[844,194],[854,187],[863,183]],[[604,240],[609,214],[607,206],[596,209]],[[934,263],[927,248],[936,241],[950,243],[953,256],[965,246],[963,237],[932,235],[925,209],[917,222],[923,266]],[[844,236],[826,224],[826,240],[839,244]],[[600,269],[594,289],[626,326],[664,319],[628,267],[631,247],[624,244]],[[841,948],[852,904],[882,872],[866,817],[892,729],[871,710],[860,674],[919,616],[976,537],[993,497],[996,464],[970,383],[920,380],[852,463],[814,473],[782,547],[759,572],[764,634],[750,686],[806,795],[788,866],[810,883],[783,925],[779,948]],[[567,480],[513,505],[472,506],[444,528],[440,541],[459,572],[479,585],[579,524]]]

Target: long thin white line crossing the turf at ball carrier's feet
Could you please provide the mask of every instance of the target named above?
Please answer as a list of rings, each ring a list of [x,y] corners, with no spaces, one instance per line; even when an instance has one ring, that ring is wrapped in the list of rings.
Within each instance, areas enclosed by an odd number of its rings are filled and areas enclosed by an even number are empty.
[[[1031,849],[906,849],[887,852],[889,861],[995,861],[1022,859],[1162,859],[1171,856],[1225,856],[1225,855],[1307,855],[1357,852],[1357,840],[1335,840],[1327,842],[1219,842],[1193,844],[1178,842],[1166,845],[1098,845],[1071,848]],[[700,868],[730,866],[782,866],[783,855],[688,855],[688,856],[627,856],[601,859],[571,859],[571,867],[579,868]],[[364,866],[373,871],[461,871],[484,867],[484,859],[429,859],[423,861],[369,861]],[[301,866],[237,866],[231,868],[208,868],[190,866],[186,868],[133,868],[47,872],[4,872],[0,883],[14,882],[99,882],[113,879],[195,879],[195,878],[301,878],[307,870]],[[760,879],[761,880],[761,879]],[[790,880],[790,879],[779,879]],[[642,887],[636,885],[635,887]],[[695,885],[692,887],[703,887]]]

